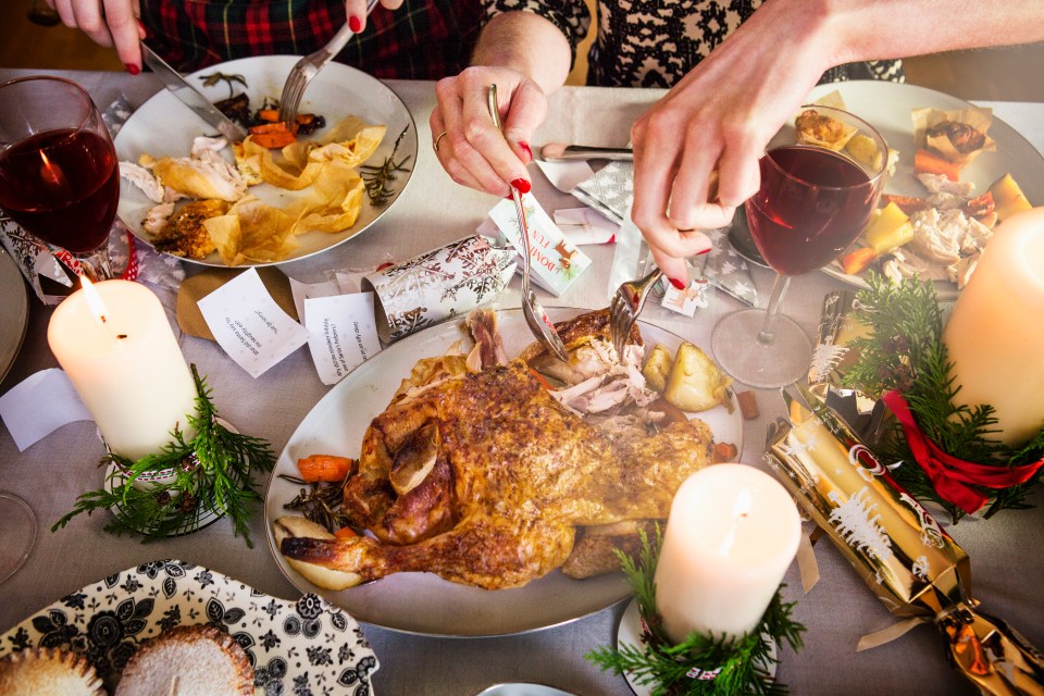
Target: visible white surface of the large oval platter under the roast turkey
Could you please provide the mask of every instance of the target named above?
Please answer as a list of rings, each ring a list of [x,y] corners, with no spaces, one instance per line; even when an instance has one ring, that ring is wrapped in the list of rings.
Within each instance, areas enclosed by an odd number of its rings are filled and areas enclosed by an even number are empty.
[[[582,311],[548,308],[554,321]],[[498,312],[504,345],[511,353],[533,343],[521,309]],[[682,338],[662,328],[638,322],[646,345],[663,344],[672,352]],[[406,633],[439,636],[492,636],[524,633],[567,623],[600,611],[630,596],[622,573],[572,580],[556,570],[523,587],[488,591],[445,581],[432,573],[396,573],[376,582],[340,592],[324,591],[301,577],[279,554],[272,522],[300,492],[300,486],[279,477],[298,476],[297,460],[315,453],[358,457],[370,421],[387,408],[403,377],[421,358],[446,353],[464,338],[457,322],[425,328],[391,344],[341,380],[301,421],[279,455],[265,493],[264,518],[269,548],[283,573],[301,592],[314,592],[349,611],[356,619]],[[709,352],[709,351],[708,351]],[[718,442],[743,446],[743,419],[733,409],[717,407],[699,413]],[[737,455],[738,457],[738,455]]]

